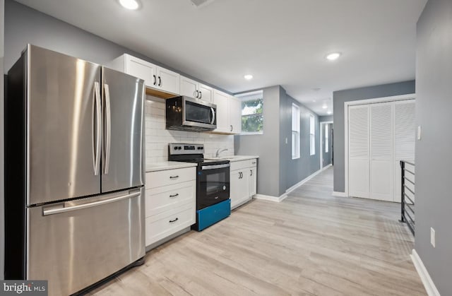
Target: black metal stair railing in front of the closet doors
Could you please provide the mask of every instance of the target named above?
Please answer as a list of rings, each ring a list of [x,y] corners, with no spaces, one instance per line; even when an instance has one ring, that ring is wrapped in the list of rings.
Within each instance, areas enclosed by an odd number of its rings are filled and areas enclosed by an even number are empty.
[[[401,210],[400,222],[407,223],[412,235],[415,235],[415,164],[400,160],[401,178]]]

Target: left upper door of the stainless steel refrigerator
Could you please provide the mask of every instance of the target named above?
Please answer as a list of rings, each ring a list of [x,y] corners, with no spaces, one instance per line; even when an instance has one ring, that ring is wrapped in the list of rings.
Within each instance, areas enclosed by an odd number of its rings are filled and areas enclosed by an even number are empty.
[[[100,85],[101,68],[32,45],[28,51],[27,202],[98,194],[100,174],[95,174],[95,160],[100,153],[96,151],[100,149],[96,141],[100,97],[96,100],[95,85]]]

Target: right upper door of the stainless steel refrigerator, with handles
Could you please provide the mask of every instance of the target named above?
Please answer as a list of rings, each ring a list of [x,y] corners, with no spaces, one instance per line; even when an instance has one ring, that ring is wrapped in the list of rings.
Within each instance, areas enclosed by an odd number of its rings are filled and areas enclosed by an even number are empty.
[[[144,184],[144,81],[102,68],[102,192]]]

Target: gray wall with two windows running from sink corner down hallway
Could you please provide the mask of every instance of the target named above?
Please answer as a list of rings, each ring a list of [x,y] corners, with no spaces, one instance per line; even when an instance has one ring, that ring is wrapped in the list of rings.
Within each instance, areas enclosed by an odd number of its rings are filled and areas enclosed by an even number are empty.
[[[300,107],[301,157],[297,160],[292,160],[292,102]],[[316,118],[316,155],[312,156],[309,114]],[[259,155],[258,194],[281,196],[319,170],[319,140],[319,117],[278,85],[263,89],[263,134],[234,136],[234,151],[239,155]]]

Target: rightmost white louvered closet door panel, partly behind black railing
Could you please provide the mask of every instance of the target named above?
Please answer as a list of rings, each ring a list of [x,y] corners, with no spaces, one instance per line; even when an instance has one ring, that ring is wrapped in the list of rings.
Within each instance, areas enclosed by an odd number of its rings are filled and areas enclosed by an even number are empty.
[[[400,160],[407,160],[409,162],[415,161],[415,141],[416,141],[416,126],[415,126],[415,100],[406,100],[394,103],[394,172],[395,174],[395,188],[394,201],[400,203],[401,201],[401,180],[400,180]],[[414,171],[414,167],[407,165],[407,169]],[[410,173],[406,173],[407,177],[415,181],[415,177]],[[407,185],[413,189],[412,184],[407,182]],[[410,196],[411,198],[411,196]]]

